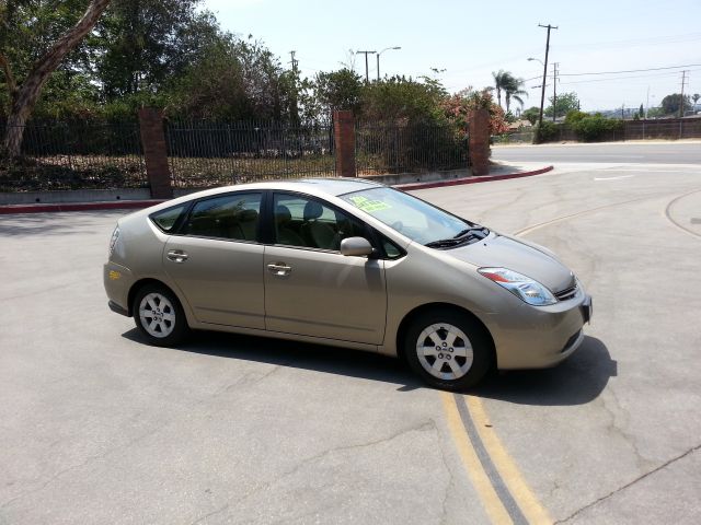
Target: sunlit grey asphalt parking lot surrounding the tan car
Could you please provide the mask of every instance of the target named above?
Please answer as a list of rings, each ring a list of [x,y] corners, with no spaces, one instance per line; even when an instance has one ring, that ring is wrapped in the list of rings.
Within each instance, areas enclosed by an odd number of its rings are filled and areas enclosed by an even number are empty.
[[[581,350],[453,396],[361,352],[152,348],[102,288],[120,212],[1,217],[0,523],[701,523],[701,168],[415,194],[558,253]]]

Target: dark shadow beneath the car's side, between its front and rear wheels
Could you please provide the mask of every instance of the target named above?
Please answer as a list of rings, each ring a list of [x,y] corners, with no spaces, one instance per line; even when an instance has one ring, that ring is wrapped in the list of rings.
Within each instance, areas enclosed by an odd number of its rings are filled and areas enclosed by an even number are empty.
[[[122,337],[146,343],[136,328],[124,332]],[[379,381],[400,385],[400,392],[424,387],[399,359],[345,348],[196,330],[185,342],[171,350]]]

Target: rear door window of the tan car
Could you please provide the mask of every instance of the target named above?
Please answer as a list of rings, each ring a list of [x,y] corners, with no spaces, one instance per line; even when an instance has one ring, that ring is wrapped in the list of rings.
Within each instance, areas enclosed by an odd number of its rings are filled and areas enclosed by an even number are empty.
[[[262,194],[231,194],[197,202],[182,234],[199,237],[255,241]]]

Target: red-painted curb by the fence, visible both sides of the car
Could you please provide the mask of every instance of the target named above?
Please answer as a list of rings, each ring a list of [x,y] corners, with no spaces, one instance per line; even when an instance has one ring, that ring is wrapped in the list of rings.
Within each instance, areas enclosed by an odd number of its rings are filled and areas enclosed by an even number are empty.
[[[452,180],[438,180],[433,183],[400,184],[395,188],[402,190],[441,188],[444,186],[458,186],[462,184],[489,183],[492,180],[506,180],[508,178],[530,177],[552,171],[553,166],[545,166],[531,172],[509,173],[507,175],[485,175],[482,177],[453,178]],[[94,210],[133,210],[160,205],[164,200],[119,200],[108,202],[62,202],[43,205],[0,205],[0,215],[14,213],[51,213],[58,211],[94,211]]]

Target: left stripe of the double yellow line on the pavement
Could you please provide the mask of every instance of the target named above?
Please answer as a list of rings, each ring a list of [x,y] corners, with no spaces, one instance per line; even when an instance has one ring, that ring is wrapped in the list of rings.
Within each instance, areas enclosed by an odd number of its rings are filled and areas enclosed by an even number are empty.
[[[498,525],[513,524],[514,522],[504,508],[502,500],[499,500],[499,497],[496,494],[489,476],[482,467],[482,463],[480,463],[480,458],[472,447],[472,442],[464,430],[464,425],[460,419],[460,413],[458,412],[458,407],[452,394],[441,392],[440,398],[446,412],[448,429],[452,434],[452,439],[458,447],[458,453],[460,454],[464,469],[468,471],[470,480],[480,495],[480,500],[484,505],[486,514],[490,516],[492,523]]]

